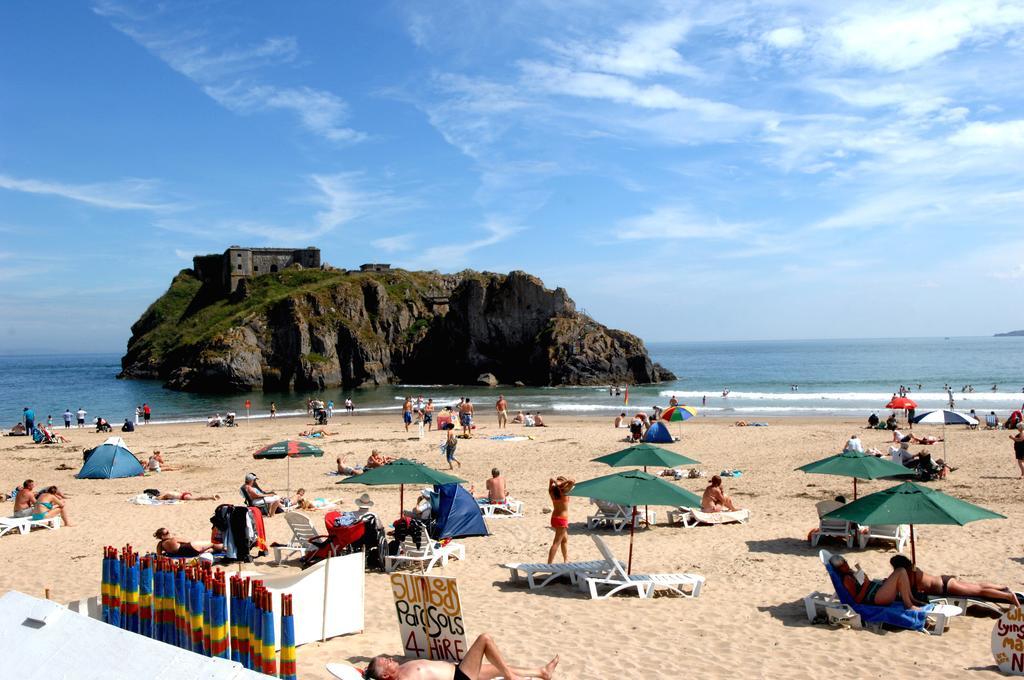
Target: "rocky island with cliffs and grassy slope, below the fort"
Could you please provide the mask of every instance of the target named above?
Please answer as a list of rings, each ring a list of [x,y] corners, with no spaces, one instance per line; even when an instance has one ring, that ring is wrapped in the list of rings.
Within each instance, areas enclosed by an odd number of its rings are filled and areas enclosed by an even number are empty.
[[[132,326],[121,364],[122,378],[206,392],[475,384],[486,373],[526,385],[675,377],[639,338],[521,271],[288,269],[225,299],[185,269]]]

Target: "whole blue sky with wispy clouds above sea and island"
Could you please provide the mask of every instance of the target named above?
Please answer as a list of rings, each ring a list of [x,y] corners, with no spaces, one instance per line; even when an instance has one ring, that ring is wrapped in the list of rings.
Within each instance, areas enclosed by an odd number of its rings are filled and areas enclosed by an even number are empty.
[[[0,352],[197,253],[525,269],[647,340],[1024,327],[1024,3],[0,4]]]

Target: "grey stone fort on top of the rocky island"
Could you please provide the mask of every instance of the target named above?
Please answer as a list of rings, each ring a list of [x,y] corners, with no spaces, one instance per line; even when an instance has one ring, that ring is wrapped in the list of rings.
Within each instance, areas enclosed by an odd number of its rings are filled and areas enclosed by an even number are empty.
[[[241,248],[231,246],[222,254],[197,255],[193,269],[204,284],[222,293],[233,293],[239,283],[264,273],[280,271],[293,264],[305,269],[321,268],[319,248]]]

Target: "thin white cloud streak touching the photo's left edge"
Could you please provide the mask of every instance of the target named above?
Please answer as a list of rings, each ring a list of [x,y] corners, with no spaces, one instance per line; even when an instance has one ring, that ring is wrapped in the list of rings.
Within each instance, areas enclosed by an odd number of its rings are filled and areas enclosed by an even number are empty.
[[[45,179],[19,179],[0,175],[0,188],[41,196],[57,196],[109,210],[148,210],[165,212],[183,206],[161,201],[159,182],[153,179],[123,179],[91,184],[66,184]]]

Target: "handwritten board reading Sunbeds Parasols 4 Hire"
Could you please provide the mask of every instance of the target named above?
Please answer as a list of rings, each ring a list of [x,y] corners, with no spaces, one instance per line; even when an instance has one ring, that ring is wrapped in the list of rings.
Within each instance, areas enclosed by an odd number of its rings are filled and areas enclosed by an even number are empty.
[[[392,573],[391,593],[407,653],[453,664],[462,661],[469,645],[455,578]]]

